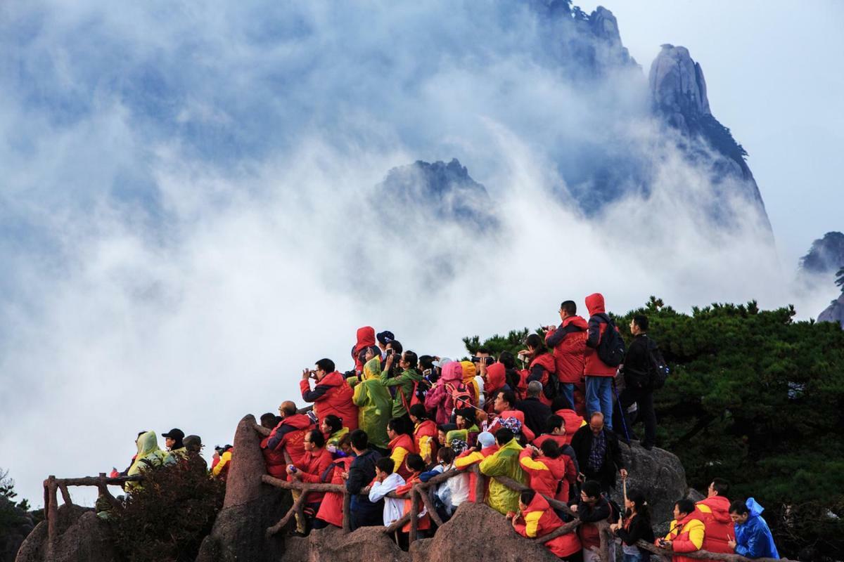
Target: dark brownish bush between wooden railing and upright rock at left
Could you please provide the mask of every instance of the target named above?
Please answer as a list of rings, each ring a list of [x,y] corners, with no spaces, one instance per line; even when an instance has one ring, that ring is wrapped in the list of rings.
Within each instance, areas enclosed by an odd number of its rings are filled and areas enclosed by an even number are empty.
[[[201,458],[145,473],[143,487],[110,513],[128,562],[193,560],[223,506],[225,484]]]

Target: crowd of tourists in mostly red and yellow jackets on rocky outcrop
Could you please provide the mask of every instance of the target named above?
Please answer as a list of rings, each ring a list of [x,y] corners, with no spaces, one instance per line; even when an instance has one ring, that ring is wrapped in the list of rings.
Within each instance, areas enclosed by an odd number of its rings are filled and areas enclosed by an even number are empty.
[[[394,496],[454,470],[457,476],[433,487],[437,519],[448,521],[463,502],[483,501],[520,535],[541,537],[576,517],[576,532],[544,543],[561,559],[596,560],[596,523],[604,521],[625,562],[649,556],[637,546],[640,540],[670,546],[675,562],[687,562],[684,554],[700,549],[778,558],[761,506],[753,498],[730,502],[722,479],[713,480],[705,500],[676,502],[664,538],[654,537],[640,491],[627,490],[624,506],[610,499],[617,478],[628,477],[619,441],[638,439],[632,428],[641,422],[641,447],[656,442],[653,393],[668,369],[647,335],[646,316],[632,319],[633,338],[625,345],[603,296],[586,297],[586,305],[588,319],[577,315],[575,302],[562,302],[560,325],[528,335],[515,356],[493,356],[484,347],[466,361],[419,356],[388,330],[358,329],[349,361],[354,367],[340,372],[330,359],[317,361],[301,373],[301,402],[284,401],[278,415],[261,416],[269,431],[261,442],[268,474],[344,486],[353,529],[389,527],[415,512],[419,536],[433,533],[436,523],[424,502],[411,506]],[[179,430],[164,436],[166,452],[158,450],[154,432],[140,434],[138,455],[125,474],[177,463],[201,447],[197,436]],[[236,451],[218,447],[211,472],[225,479],[232,463]],[[490,477],[482,498],[476,497],[476,465]],[[513,490],[494,477],[529,490]],[[301,493],[293,490],[295,500]],[[343,526],[342,494],[309,491],[304,506],[297,534]],[[409,530],[410,522],[397,529],[400,544]]]

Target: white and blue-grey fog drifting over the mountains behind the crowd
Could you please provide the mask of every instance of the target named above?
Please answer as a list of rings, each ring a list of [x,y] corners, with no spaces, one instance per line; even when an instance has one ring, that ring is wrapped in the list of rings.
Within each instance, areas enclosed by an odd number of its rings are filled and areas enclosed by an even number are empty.
[[[138,431],[196,433],[209,458],[243,415],[304,405],[301,369],[349,368],[362,325],[462,356],[463,336],[596,291],[616,313],[650,295],[817,310],[755,211],[713,201],[648,115],[641,72],[571,78],[524,6],[0,14],[0,466],[36,506],[48,474],[125,468]],[[585,217],[566,176],[593,147],[647,167],[649,197]],[[385,227],[387,170],[451,158],[495,232],[424,207]],[[715,204],[743,220],[702,216]]]

